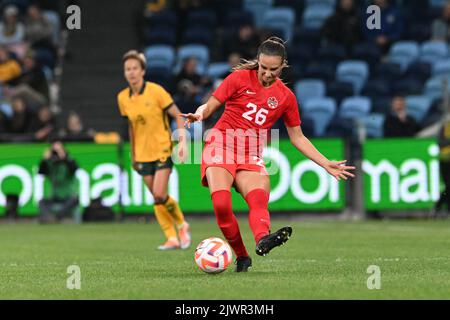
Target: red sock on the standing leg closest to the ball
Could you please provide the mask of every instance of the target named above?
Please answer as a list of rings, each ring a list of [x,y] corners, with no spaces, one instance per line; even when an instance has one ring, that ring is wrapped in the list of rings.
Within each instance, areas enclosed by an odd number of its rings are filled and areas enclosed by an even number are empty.
[[[238,222],[231,208],[231,192],[228,190],[215,191],[211,194],[211,199],[217,223],[234,253],[237,257],[247,257],[247,249],[245,249]]]

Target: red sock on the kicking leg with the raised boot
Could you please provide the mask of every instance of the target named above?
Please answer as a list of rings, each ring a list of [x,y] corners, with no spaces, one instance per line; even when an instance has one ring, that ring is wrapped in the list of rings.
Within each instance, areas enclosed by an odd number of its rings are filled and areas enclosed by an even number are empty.
[[[250,209],[248,221],[253,231],[255,242],[269,234],[270,216],[269,216],[269,194],[264,189],[254,189],[247,193],[245,197]]]

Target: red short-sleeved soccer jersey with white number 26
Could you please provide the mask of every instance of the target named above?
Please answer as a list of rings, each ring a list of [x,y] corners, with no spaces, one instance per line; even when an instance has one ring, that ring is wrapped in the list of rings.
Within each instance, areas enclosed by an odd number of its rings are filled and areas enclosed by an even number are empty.
[[[258,80],[257,70],[238,70],[226,77],[212,94],[225,104],[214,128],[270,129],[283,117],[288,127],[301,124],[297,99],[279,79],[269,88]]]

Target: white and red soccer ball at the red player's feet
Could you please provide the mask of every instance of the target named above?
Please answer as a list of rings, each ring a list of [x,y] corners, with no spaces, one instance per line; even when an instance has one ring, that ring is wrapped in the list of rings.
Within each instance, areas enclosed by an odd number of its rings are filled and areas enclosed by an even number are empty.
[[[195,249],[195,263],[206,273],[225,271],[232,258],[233,253],[229,244],[220,238],[205,239]]]

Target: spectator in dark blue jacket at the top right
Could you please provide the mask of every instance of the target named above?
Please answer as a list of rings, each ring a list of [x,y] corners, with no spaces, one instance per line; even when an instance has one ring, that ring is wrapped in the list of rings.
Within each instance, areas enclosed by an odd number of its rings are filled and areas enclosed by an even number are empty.
[[[375,42],[385,54],[393,42],[400,40],[404,21],[400,11],[390,4],[389,0],[373,0],[372,2],[381,9],[381,29],[368,29],[366,26],[367,15],[364,16],[362,25],[366,39]]]

